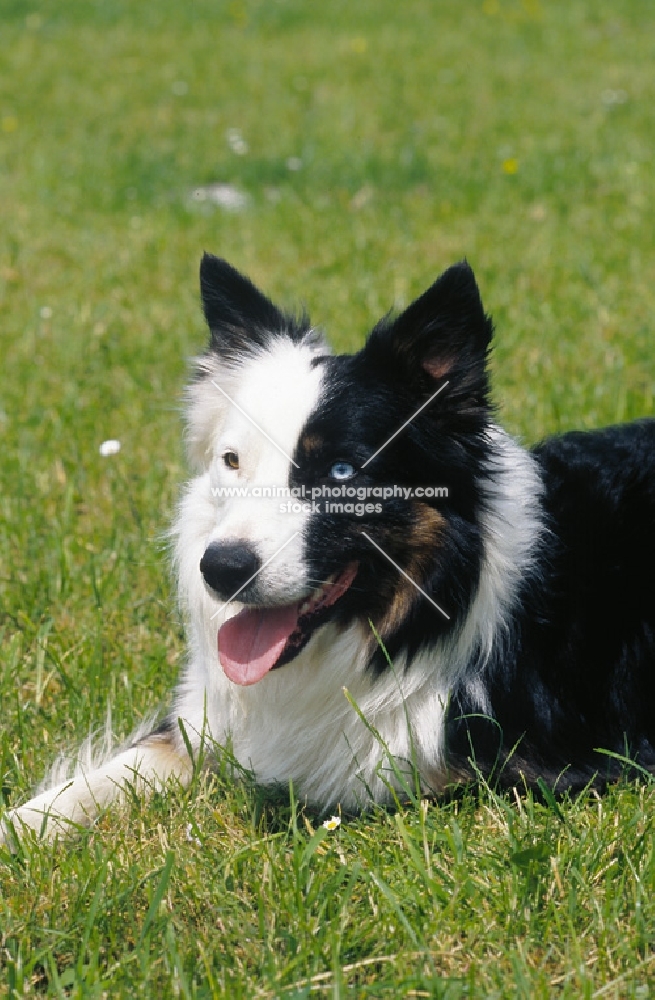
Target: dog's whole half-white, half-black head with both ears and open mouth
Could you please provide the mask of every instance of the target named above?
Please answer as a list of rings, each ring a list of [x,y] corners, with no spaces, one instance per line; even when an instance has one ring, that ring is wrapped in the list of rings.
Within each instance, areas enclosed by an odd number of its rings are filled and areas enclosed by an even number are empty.
[[[331,356],[306,318],[216,257],[201,290],[211,340],[189,439],[215,522],[198,573],[217,608],[245,606],[219,632],[228,677],[260,680],[329,620],[371,620],[387,646],[426,605],[422,634],[448,628],[477,572],[488,420],[491,324],[468,265],[355,355]]]

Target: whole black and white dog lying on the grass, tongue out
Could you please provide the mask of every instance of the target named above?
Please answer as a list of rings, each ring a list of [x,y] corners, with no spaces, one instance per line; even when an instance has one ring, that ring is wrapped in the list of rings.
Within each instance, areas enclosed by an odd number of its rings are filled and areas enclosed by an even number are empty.
[[[319,810],[388,801],[410,770],[427,793],[655,771],[655,420],[520,447],[466,263],[354,355],[216,257],[201,288],[186,670],[163,724],[14,826],[52,836],[126,783],[184,782],[203,739]]]

